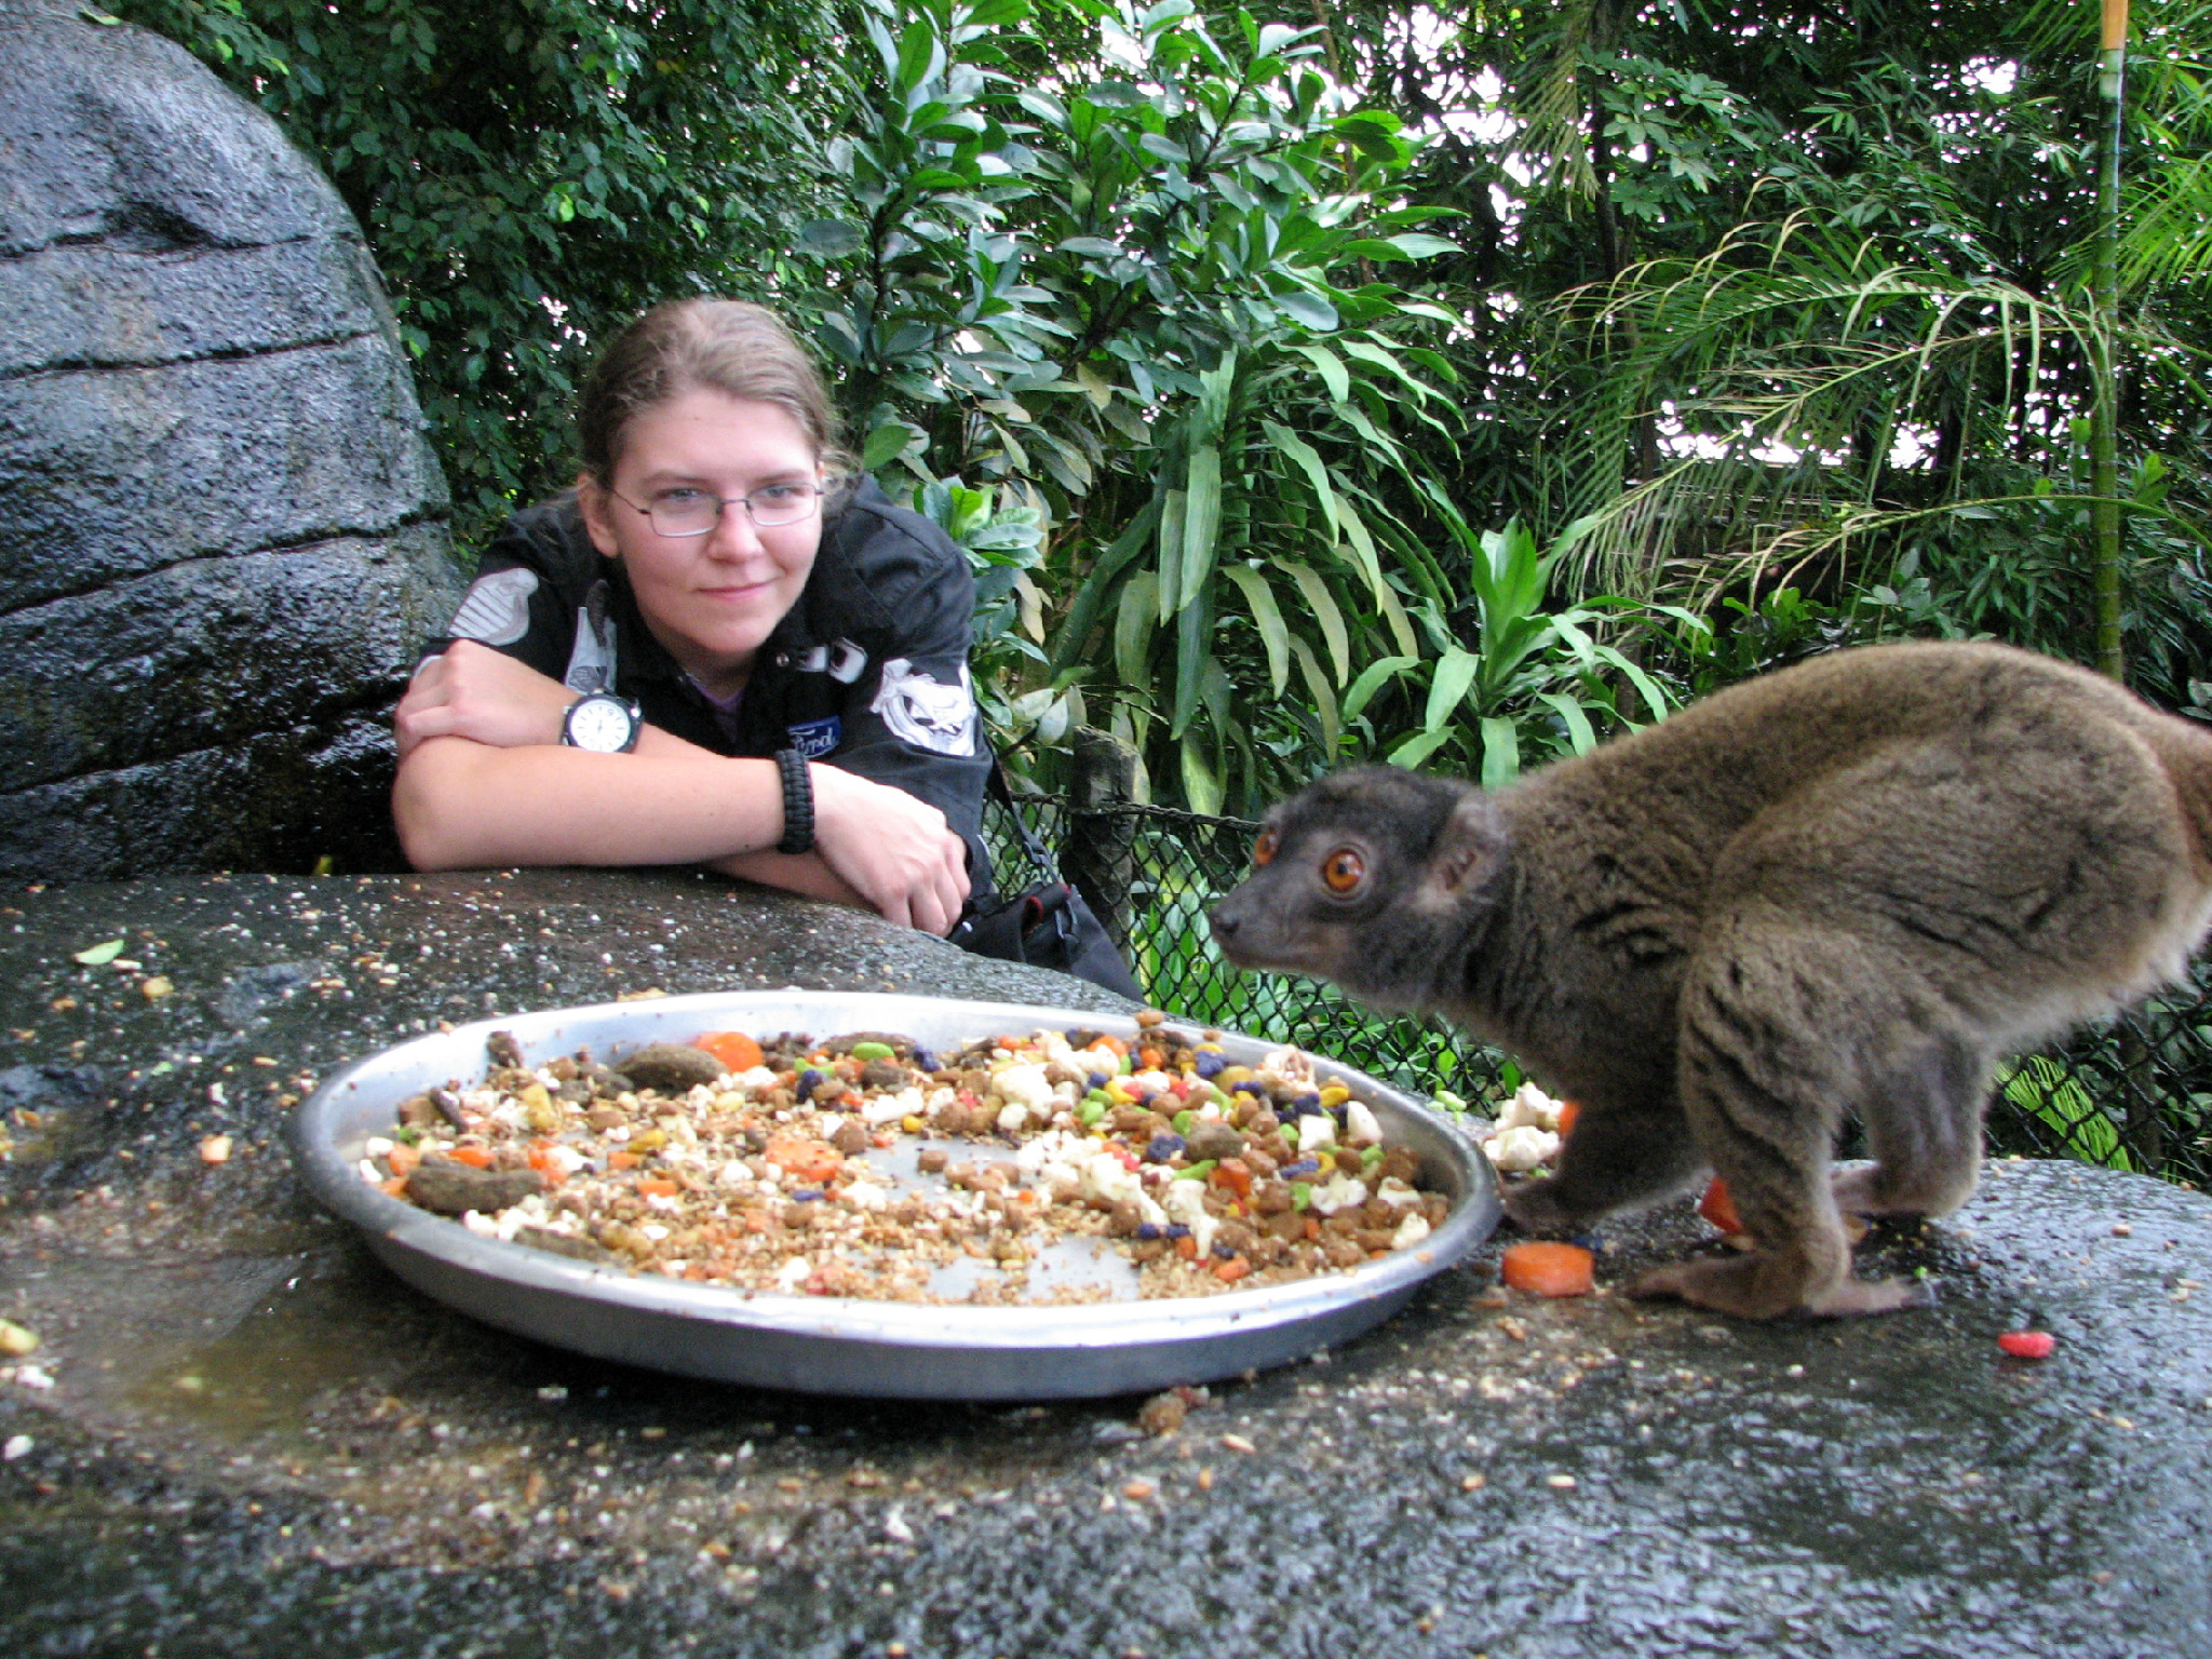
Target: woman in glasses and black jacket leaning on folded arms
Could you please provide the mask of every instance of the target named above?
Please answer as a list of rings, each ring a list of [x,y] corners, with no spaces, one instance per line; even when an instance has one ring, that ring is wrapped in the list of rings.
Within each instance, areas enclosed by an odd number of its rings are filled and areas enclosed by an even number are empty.
[[[407,858],[706,863],[949,931],[989,872],[960,549],[843,480],[759,305],[646,312],[577,429],[575,491],[509,520],[400,699]]]

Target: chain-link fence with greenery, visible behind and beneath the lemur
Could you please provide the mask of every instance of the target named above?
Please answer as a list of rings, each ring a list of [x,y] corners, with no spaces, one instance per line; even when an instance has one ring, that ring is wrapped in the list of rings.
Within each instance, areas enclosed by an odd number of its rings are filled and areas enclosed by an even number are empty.
[[[1256,823],[1126,803],[1077,812],[1055,796],[1018,805],[1046,847],[1066,849],[1071,878],[1124,942],[1157,1006],[1294,1042],[1413,1095],[1495,1095],[1506,1055],[1444,1022],[1367,1013],[1334,987],[1241,973],[1221,958],[1206,916],[1243,880]],[[984,838],[1000,885],[1029,885],[1002,807],[987,814]],[[2194,962],[2192,984],[2017,1062],[1991,1102],[1989,1144],[2212,1186],[2212,956]]]

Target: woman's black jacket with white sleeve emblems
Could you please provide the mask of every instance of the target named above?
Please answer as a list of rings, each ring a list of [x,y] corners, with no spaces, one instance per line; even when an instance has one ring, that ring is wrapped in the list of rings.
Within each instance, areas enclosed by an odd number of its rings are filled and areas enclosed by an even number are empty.
[[[920,513],[863,482],[823,524],[814,571],[761,646],[734,741],[706,695],[646,628],[619,560],[584,531],[575,491],[529,507],[484,549],[451,639],[480,639],[575,692],[611,688],[650,726],[717,754],[807,759],[927,801],[969,843],[989,887],[982,792],[991,754],[967,653],[975,580]],[[613,684],[608,686],[608,666]]]

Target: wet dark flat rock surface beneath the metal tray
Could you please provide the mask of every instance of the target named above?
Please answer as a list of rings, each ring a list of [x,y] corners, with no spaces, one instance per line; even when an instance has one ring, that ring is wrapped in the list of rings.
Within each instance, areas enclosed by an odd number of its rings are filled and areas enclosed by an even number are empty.
[[[288,1097],[644,989],[1104,993],[690,876],[0,907],[0,1318],[40,1338],[0,1358],[9,1655],[2212,1652],[2201,1194],[1993,1166],[1863,1250],[1938,1305],[1851,1325],[1542,1303],[1491,1250],[1164,1438],[1139,1400],[745,1391],[405,1290],[305,1201]],[[113,938],[137,967],[71,960]],[[1717,1248],[1686,1206],[1601,1245],[1604,1287]],[[2022,1323],[2053,1358],[2000,1354]]]

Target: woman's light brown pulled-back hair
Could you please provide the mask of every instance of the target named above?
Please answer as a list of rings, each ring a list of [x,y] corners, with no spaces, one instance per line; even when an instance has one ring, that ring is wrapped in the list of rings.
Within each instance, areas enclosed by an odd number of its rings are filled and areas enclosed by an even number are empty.
[[[814,372],[814,358],[781,316],[739,299],[655,305],[608,343],[577,398],[575,434],[584,471],[611,487],[630,420],[701,387],[745,403],[772,403],[799,422],[814,458],[832,476],[849,471],[849,456],[838,447],[836,407]]]

